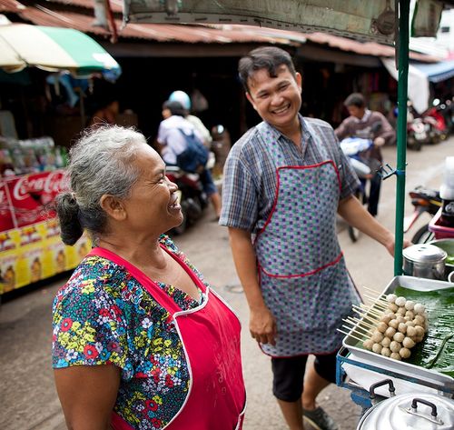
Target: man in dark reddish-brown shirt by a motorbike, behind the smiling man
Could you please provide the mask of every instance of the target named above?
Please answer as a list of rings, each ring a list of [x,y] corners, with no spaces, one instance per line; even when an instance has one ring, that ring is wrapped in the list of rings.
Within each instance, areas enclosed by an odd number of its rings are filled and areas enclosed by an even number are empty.
[[[380,147],[390,145],[396,140],[396,132],[390,122],[380,112],[370,111],[366,107],[366,101],[360,93],[350,94],[344,101],[344,106],[349,111],[350,116],[341,122],[341,125],[334,130],[335,135],[340,139],[349,136],[370,138],[373,135],[373,147],[370,158],[377,160],[380,165],[383,162]],[[373,131],[376,123],[380,123],[380,128]],[[377,163],[378,164],[378,163]],[[377,170],[377,169],[375,169]],[[368,211],[370,215],[376,216],[379,210],[381,188],[381,176],[377,171],[370,178],[370,193],[368,199]]]

